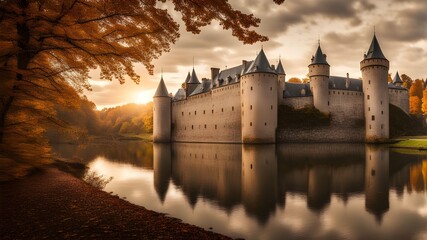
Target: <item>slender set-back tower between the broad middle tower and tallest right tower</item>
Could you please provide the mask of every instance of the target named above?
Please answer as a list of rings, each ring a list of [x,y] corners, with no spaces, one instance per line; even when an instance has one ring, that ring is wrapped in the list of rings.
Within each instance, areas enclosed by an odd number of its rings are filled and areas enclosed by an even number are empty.
[[[317,47],[316,54],[308,65],[310,89],[313,93],[314,107],[323,113],[329,113],[329,70],[330,65],[326,61],[326,55]]]

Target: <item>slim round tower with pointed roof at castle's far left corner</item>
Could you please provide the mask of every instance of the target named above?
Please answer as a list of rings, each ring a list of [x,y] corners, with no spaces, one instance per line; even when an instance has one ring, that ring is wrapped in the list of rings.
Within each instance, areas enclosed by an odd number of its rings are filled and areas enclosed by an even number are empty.
[[[163,76],[153,96],[153,141],[170,142],[171,139],[171,98]]]

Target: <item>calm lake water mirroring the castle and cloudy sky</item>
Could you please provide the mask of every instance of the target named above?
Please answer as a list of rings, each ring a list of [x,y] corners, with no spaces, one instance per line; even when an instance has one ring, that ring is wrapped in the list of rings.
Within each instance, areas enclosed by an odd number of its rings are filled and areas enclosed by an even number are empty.
[[[427,153],[141,142],[56,152],[113,177],[107,192],[233,238],[427,239]]]

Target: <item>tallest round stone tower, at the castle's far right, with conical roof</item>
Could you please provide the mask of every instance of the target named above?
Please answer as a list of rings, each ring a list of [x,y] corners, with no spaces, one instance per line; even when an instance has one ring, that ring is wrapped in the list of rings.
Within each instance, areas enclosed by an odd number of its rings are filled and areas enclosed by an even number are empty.
[[[365,139],[378,142],[389,137],[389,62],[374,34],[371,46],[360,62],[365,105]]]

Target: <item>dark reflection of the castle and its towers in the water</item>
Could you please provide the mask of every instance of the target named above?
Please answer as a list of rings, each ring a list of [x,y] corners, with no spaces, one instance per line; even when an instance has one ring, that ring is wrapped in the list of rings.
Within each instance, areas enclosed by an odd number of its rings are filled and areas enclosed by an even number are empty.
[[[370,145],[154,144],[153,164],[162,202],[171,180],[193,207],[199,199],[227,212],[242,204],[261,224],[286,207],[288,194],[306,196],[315,212],[330,204],[331,195],[345,203],[364,194],[366,211],[381,223],[389,189],[402,194],[405,188],[425,191],[427,185],[426,160],[402,159],[389,148]]]

